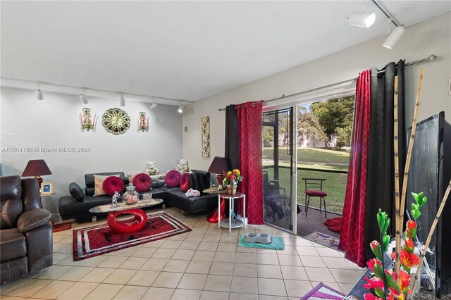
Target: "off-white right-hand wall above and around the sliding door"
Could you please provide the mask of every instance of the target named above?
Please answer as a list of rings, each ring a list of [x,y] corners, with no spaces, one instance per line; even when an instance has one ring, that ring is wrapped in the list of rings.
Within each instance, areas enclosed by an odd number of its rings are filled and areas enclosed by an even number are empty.
[[[451,78],[450,23],[450,13],[445,13],[407,28],[393,50],[382,46],[385,36],[372,39],[223,94],[197,101],[187,106],[183,113],[183,126],[188,127],[188,132],[183,132],[183,156],[197,168],[206,169],[209,168],[214,156],[224,155],[225,112],[218,112],[218,108],[224,108],[228,104],[273,99],[283,94],[307,91],[349,80],[357,77],[362,70],[371,67],[383,68],[390,61],[405,59],[408,63],[430,54],[439,56],[438,60],[406,68],[407,120],[408,123],[412,122],[419,68],[424,68],[419,120],[438,111],[445,111],[446,119],[451,123],[451,97],[447,92]],[[356,30],[364,29],[356,28]],[[210,158],[202,158],[201,154],[200,120],[205,115],[210,116]]]

